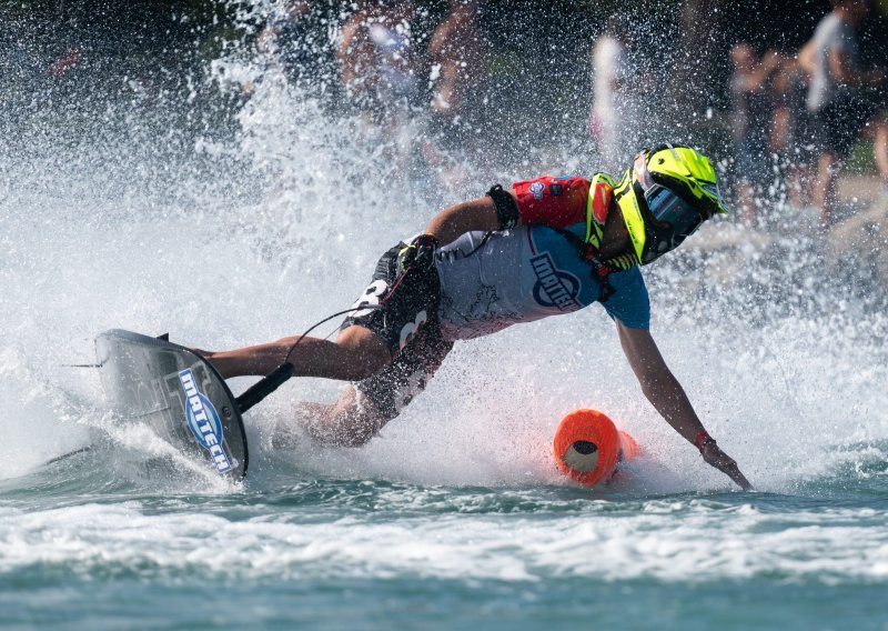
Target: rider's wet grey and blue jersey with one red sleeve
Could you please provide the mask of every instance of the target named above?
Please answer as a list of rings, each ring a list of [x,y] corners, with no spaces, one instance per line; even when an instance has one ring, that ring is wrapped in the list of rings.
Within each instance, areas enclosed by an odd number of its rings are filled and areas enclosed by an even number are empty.
[[[572,313],[602,298],[603,282],[592,274],[576,247],[558,230],[586,239],[587,213],[604,224],[607,208],[594,206],[582,178],[539,178],[517,182],[519,226],[497,232],[468,232],[441,248],[438,320],[445,340],[486,335],[518,322]],[[593,189],[593,196],[596,190]],[[602,203],[609,204],[609,189]],[[647,329],[650,307],[637,266],[624,264],[607,282],[614,293],[603,302],[612,318]]]

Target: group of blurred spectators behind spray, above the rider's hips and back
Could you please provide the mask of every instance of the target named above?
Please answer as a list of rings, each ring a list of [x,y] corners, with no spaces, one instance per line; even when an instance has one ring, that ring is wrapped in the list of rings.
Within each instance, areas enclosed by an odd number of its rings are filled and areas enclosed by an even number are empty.
[[[353,113],[360,136],[398,170],[434,173],[433,186],[453,189],[472,178],[483,144],[481,10],[477,0],[453,0],[421,46],[411,1],[363,2],[336,30],[316,4],[287,0],[259,44],[303,93]]]

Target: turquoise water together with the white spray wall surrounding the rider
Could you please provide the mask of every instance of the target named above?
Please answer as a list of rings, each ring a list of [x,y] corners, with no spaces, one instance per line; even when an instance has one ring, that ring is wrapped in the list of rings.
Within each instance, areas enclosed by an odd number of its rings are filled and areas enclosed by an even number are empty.
[[[597,307],[458,345],[361,450],[269,447],[294,401],[335,395],[295,380],[248,414],[242,485],[111,417],[64,365],[98,332],[302,331],[435,210],[345,122],[255,90],[226,140],[158,131],[137,99],[88,132],[34,119],[0,156],[4,625],[888,628],[882,303],[834,287],[804,234],[722,223],[648,277],[654,334],[755,492],[656,415]],[[552,166],[526,168],[507,177]],[[642,444],[610,488],[551,462],[579,407]]]

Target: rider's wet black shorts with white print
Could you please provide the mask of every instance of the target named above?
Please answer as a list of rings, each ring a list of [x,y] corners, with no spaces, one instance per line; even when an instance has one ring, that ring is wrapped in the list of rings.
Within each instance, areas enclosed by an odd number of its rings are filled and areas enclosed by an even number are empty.
[[[386,420],[395,418],[425,389],[453,348],[453,342],[442,338],[438,325],[437,277],[434,272],[431,278],[407,273],[398,279],[397,253],[402,248],[404,243],[382,256],[370,287],[355,302],[355,307],[370,309],[356,311],[342,324],[343,329],[370,329],[394,358],[381,372],[355,384]]]

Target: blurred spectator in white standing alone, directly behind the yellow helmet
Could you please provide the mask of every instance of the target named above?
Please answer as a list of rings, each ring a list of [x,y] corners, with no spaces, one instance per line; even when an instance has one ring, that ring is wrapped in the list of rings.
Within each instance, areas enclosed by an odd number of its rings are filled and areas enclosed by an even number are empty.
[[[592,49],[592,72],[589,132],[598,143],[603,168],[616,172],[640,149],[640,116],[649,82],[635,51],[630,16],[620,12],[607,20]]]

